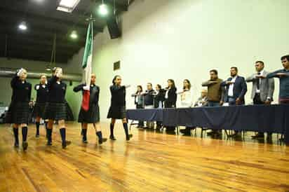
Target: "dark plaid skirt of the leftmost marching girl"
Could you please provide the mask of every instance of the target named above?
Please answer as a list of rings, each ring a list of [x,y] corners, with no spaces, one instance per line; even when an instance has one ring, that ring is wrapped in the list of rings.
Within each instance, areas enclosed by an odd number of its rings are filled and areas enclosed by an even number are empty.
[[[6,119],[6,123],[26,123],[29,122],[29,104],[28,102],[11,102]]]

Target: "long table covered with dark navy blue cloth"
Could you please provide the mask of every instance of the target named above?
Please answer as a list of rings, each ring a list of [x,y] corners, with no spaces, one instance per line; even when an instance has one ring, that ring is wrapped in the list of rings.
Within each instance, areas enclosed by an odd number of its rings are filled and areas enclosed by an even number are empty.
[[[127,118],[162,121],[165,126],[275,132],[283,134],[289,144],[289,105],[128,109]]]

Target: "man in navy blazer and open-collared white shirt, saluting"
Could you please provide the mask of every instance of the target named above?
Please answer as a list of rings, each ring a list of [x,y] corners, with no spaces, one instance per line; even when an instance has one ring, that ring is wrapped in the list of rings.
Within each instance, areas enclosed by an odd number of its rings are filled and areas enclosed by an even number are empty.
[[[223,81],[221,86],[225,88],[224,102],[229,103],[229,105],[242,105],[245,104],[245,94],[247,92],[247,84],[243,76],[238,76],[238,68],[231,67],[231,77],[227,81]],[[235,131],[234,135],[231,136],[241,136],[238,131]]]

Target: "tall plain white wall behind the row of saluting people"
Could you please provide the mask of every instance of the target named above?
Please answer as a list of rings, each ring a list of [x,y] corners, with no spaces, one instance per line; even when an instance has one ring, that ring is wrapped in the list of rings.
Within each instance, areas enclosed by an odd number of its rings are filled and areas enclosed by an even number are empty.
[[[110,40],[107,29],[95,36],[93,71],[101,89],[102,121],[115,74],[133,85],[127,91],[128,108],[133,108],[129,95],[138,84],[164,86],[173,78],[180,90],[189,78],[196,99],[210,69],[217,69],[220,78],[228,78],[232,66],[249,76],[256,60],[263,60],[268,71],[280,69],[281,55],[289,53],[288,10],[288,0],[135,0],[122,15],[121,39]],[[69,63],[79,62],[82,55]],[[121,69],[113,71],[118,60]],[[248,85],[247,103],[250,90]],[[274,100],[277,95],[278,81]]]

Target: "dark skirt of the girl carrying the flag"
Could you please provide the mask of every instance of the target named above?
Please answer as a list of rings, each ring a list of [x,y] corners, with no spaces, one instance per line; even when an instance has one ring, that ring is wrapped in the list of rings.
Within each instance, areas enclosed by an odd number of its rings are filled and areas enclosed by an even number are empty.
[[[100,107],[98,104],[90,104],[88,111],[81,107],[79,111],[79,123],[98,123],[100,122]]]

